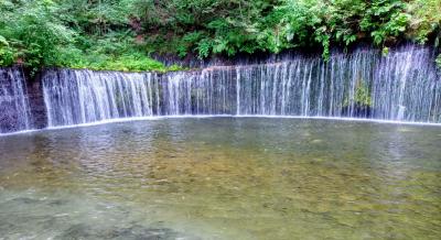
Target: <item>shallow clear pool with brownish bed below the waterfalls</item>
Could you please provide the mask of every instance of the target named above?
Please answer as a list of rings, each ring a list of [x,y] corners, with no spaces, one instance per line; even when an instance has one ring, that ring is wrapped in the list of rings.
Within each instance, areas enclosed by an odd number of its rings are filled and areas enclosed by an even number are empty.
[[[203,118],[0,138],[0,239],[440,236],[440,127]]]

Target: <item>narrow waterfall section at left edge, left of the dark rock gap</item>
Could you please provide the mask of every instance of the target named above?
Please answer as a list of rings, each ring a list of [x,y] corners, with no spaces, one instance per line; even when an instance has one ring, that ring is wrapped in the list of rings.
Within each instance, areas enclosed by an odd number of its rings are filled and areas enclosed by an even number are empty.
[[[26,86],[18,68],[0,68],[0,133],[32,128]]]

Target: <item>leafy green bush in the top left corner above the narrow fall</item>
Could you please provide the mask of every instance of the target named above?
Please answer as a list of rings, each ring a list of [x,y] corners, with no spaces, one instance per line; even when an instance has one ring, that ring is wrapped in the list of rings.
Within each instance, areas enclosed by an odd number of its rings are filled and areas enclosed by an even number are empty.
[[[1,2],[2,63],[15,59],[36,70],[56,59],[56,47],[68,44],[74,33],[55,18],[54,6],[51,0]]]

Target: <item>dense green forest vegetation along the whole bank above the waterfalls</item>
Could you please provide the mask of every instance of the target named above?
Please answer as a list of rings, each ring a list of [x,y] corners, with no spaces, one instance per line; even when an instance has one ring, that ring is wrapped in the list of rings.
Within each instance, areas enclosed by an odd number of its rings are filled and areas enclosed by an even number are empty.
[[[173,70],[180,57],[438,45],[440,0],[0,0],[0,65]],[[441,57],[438,58],[441,65]]]

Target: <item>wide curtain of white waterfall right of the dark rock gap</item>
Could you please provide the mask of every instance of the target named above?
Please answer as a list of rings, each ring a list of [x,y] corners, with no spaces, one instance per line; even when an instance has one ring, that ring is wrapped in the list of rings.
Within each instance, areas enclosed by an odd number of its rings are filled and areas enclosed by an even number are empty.
[[[189,114],[347,117],[441,122],[441,78],[430,47],[209,66],[168,74],[49,70],[50,127]]]

